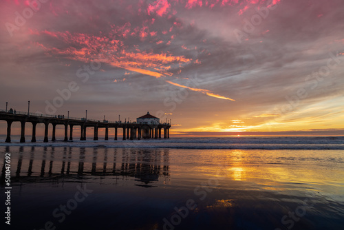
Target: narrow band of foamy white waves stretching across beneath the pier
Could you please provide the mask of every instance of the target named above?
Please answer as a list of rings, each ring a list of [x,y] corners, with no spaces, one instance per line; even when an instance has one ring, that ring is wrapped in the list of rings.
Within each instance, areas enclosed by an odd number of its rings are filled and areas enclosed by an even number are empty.
[[[1,142],[0,146],[37,147],[107,147],[107,148],[173,148],[173,149],[344,149],[343,136],[330,137],[221,137],[171,138],[161,140],[74,140],[43,143]]]

